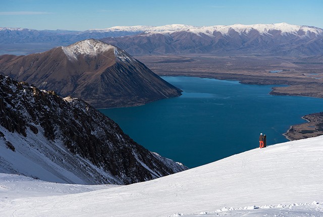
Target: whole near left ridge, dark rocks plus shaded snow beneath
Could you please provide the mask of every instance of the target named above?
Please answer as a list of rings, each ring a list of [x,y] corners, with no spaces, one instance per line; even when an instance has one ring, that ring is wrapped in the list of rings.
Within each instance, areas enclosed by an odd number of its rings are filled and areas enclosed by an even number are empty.
[[[187,169],[149,152],[86,102],[0,75],[0,172],[129,184]]]

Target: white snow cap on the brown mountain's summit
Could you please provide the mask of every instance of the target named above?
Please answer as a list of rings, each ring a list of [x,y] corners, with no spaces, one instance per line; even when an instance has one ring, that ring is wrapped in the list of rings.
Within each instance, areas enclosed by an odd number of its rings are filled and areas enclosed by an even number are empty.
[[[70,60],[77,60],[79,55],[95,57],[102,52],[115,49],[115,46],[95,39],[86,39],[69,46],[62,46],[62,49]]]

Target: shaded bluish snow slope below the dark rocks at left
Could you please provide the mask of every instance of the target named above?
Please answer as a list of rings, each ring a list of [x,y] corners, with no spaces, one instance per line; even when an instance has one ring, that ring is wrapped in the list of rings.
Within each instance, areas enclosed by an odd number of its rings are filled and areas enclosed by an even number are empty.
[[[63,141],[50,141],[44,130],[36,126],[35,134],[27,129],[27,137],[9,132],[0,125],[0,173],[21,174],[35,179],[58,183],[95,184],[98,180],[122,184],[113,175],[98,170],[89,160],[72,154]],[[11,144],[14,151],[6,144]],[[91,174],[91,176],[89,176]],[[103,183],[103,182],[101,182]]]

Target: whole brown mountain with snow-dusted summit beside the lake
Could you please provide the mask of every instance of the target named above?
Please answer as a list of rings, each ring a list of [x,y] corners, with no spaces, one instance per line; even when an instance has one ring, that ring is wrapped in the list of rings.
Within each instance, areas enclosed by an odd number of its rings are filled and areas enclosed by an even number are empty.
[[[0,73],[95,107],[140,105],[181,95],[125,51],[95,39],[27,56],[0,56]]]

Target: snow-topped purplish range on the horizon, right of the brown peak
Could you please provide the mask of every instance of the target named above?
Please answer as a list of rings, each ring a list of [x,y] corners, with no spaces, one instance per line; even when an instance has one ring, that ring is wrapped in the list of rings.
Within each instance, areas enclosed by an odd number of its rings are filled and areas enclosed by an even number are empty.
[[[316,56],[323,53],[323,29],[287,23],[148,28],[138,35],[104,38],[132,55],[213,53],[216,55]]]

